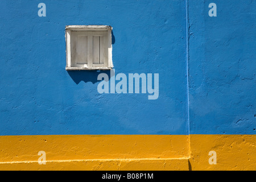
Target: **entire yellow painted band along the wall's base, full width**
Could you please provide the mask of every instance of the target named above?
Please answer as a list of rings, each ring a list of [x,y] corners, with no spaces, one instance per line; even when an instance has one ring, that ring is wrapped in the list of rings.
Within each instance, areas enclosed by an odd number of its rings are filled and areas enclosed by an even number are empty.
[[[2,136],[0,170],[256,170],[255,141],[256,135]],[[46,165],[38,164],[39,151]]]

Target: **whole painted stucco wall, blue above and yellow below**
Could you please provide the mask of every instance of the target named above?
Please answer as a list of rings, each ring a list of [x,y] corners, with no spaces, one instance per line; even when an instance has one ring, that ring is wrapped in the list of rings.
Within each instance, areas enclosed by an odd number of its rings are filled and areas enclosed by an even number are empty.
[[[255,8],[254,0],[1,1],[0,169],[255,170]],[[113,27],[115,75],[158,73],[158,99],[98,93],[98,75],[113,71],[65,71],[65,26],[95,24]]]

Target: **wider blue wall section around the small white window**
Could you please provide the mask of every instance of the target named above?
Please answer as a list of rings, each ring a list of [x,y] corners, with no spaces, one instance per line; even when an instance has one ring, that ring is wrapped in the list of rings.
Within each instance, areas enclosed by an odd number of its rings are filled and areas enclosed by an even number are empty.
[[[46,17],[38,4],[46,4]],[[188,134],[185,1],[1,1],[0,134]],[[116,74],[159,73],[159,98],[99,94],[65,71],[65,26],[113,27]],[[105,72],[108,73],[109,72]]]

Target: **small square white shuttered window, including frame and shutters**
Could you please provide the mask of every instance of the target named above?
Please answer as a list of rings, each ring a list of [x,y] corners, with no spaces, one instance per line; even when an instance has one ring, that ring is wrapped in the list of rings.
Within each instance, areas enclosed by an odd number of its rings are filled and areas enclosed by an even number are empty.
[[[112,27],[66,26],[66,70],[112,69]]]

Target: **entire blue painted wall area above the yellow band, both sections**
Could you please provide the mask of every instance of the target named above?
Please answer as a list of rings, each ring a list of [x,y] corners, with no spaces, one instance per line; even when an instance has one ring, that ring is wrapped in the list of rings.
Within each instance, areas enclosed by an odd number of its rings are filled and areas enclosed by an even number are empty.
[[[181,0],[0,7],[0,135],[256,133],[256,1],[191,0],[188,12]],[[159,73],[158,100],[99,94],[102,71],[65,71],[65,26],[76,24],[112,26],[115,74]]]

